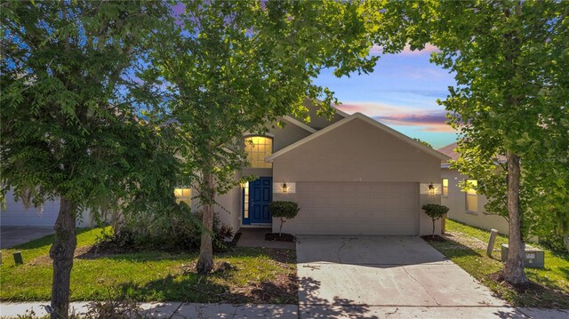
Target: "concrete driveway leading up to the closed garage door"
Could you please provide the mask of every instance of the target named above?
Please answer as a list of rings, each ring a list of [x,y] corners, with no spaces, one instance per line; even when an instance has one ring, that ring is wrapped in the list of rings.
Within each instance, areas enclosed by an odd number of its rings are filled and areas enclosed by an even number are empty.
[[[296,249],[301,317],[525,317],[419,237],[300,236]]]

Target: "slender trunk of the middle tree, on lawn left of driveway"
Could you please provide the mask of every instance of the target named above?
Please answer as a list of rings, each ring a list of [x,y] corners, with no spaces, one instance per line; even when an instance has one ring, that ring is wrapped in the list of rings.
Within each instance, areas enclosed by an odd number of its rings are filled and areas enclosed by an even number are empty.
[[[204,216],[202,218],[204,229],[202,229],[202,241],[199,247],[199,259],[197,259],[196,270],[198,273],[209,273],[213,270],[213,201],[215,191],[213,189],[212,171],[204,170],[204,194],[207,202],[204,203]]]

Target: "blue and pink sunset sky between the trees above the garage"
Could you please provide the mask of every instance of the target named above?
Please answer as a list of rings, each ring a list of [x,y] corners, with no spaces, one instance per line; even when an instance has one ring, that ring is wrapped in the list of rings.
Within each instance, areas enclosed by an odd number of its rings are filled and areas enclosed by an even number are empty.
[[[428,45],[421,52],[406,48],[398,54],[382,55],[373,73],[338,78],[325,70],[315,84],[327,86],[341,101],[342,111],[360,112],[405,135],[424,140],[433,148],[453,143],[456,132],[445,124],[445,100],[454,78],[429,62],[437,48]],[[379,50],[372,49],[372,53]]]

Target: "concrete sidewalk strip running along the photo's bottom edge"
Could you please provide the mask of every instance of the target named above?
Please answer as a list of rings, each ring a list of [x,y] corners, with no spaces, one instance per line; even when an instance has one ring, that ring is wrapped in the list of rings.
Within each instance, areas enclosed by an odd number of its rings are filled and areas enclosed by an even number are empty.
[[[0,316],[13,318],[33,310],[37,317],[47,315],[45,302],[1,303]],[[88,302],[72,302],[76,314],[88,310]],[[299,313],[296,305],[228,305],[180,302],[143,303],[140,308],[154,318],[539,318],[565,319],[569,310],[514,308],[514,307],[373,307],[373,306],[313,306],[303,305]],[[175,314],[174,314],[175,313]],[[174,314],[174,315],[172,315]]]

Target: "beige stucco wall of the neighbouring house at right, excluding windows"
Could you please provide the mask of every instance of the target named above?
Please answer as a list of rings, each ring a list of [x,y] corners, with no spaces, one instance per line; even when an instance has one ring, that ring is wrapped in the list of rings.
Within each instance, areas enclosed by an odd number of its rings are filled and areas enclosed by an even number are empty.
[[[478,211],[466,211],[466,194],[458,184],[467,179],[457,170],[441,169],[441,179],[448,179],[449,194],[441,198],[441,203],[449,208],[448,217],[461,221],[470,226],[484,229],[497,229],[501,234],[508,234],[508,221],[501,216],[486,215],[484,205],[487,203],[484,195],[478,195]]]

